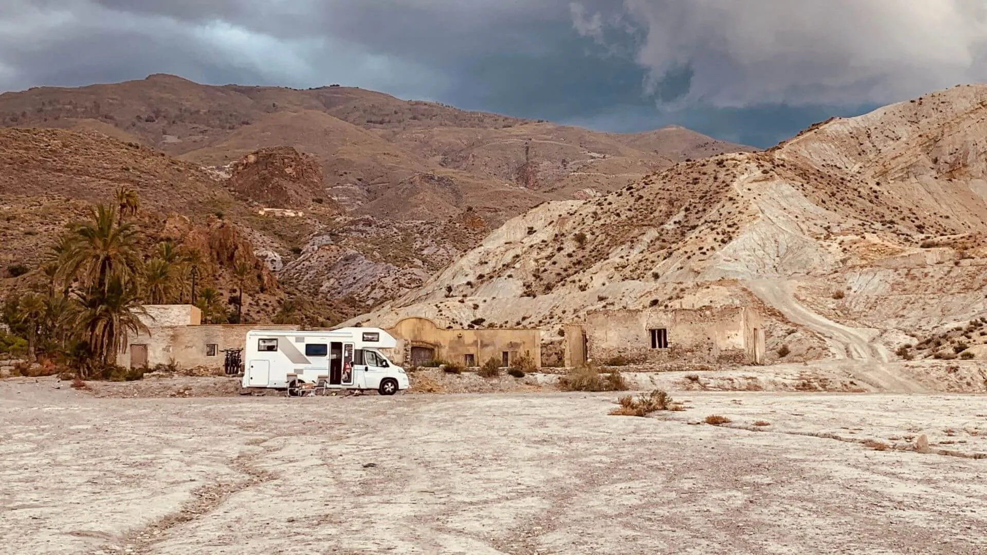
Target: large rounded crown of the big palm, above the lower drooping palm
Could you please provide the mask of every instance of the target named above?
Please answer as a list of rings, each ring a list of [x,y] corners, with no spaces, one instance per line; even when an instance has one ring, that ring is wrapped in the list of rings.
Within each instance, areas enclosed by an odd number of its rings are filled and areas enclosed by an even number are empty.
[[[114,206],[98,205],[93,219],[73,226],[62,249],[61,278],[79,278],[87,292],[108,291],[113,278],[124,284],[141,271],[137,230],[129,222],[117,223]]]

